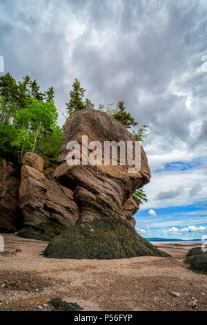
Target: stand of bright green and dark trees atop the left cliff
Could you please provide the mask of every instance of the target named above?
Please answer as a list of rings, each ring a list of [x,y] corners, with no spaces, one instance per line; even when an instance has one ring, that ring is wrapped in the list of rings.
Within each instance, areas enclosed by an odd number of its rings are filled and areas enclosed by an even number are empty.
[[[58,158],[63,137],[53,87],[43,94],[28,75],[17,84],[7,73],[0,77],[0,109],[1,156],[18,156],[19,163],[26,151],[47,155],[51,161]]]

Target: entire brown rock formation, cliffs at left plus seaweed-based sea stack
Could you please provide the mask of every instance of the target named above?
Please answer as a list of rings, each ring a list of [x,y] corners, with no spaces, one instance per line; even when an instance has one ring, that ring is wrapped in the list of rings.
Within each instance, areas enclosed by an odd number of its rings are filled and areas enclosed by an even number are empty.
[[[112,161],[104,164],[103,155],[95,165],[84,165],[83,160],[88,159],[93,149],[82,145],[82,136],[88,136],[88,143],[99,141],[97,145],[101,148],[105,141],[122,141],[126,147],[130,141],[135,149],[132,133],[107,113],[93,109],[73,113],[66,122],[55,174],[44,166],[41,157],[28,152],[23,157],[20,183],[13,165],[1,162],[1,230],[15,231],[17,219],[22,220],[19,236],[50,241],[44,252],[46,257],[167,256],[135,230],[133,215],[139,210],[139,203],[132,193],[150,180],[144,149],[141,147],[139,172],[129,173],[128,165],[119,164],[120,150],[118,165]],[[70,141],[79,144],[80,165],[68,165],[66,161]]]

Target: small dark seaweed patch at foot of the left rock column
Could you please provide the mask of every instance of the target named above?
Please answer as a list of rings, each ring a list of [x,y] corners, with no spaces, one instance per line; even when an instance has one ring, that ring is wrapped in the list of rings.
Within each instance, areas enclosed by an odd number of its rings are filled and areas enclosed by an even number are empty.
[[[52,221],[51,223],[40,225],[39,228],[23,227],[19,230],[18,236],[28,239],[37,239],[39,241],[51,241],[55,236],[58,236],[65,230],[66,228]]]

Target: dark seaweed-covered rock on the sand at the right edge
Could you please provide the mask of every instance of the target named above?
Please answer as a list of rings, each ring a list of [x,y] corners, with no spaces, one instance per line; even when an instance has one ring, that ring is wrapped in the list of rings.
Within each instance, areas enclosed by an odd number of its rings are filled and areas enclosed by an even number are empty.
[[[201,247],[189,250],[186,263],[190,264],[190,270],[207,274],[207,252],[202,252]]]

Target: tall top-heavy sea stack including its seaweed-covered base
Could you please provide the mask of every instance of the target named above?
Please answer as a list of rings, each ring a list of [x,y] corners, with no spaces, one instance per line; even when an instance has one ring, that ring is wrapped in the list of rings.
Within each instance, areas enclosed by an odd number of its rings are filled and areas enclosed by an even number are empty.
[[[141,169],[128,172],[128,165],[83,165],[91,151],[86,151],[82,136],[88,143],[99,141],[132,141],[135,137],[110,115],[83,109],[68,118],[59,156],[55,178],[66,187],[72,188],[79,207],[79,220],[75,227],[68,228],[52,239],[44,254],[46,257],[71,259],[115,259],[139,255],[167,256],[141,238],[135,231],[132,214],[139,205],[132,198],[135,189],[150,180],[150,169],[144,149],[141,148]],[[81,151],[80,165],[68,165],[67,144],[76,141]],[[98,144],[99,146],[99,144]],[[119,157],[120,158],[120,157]],[[120,159],[119,159],[120,160]]]

